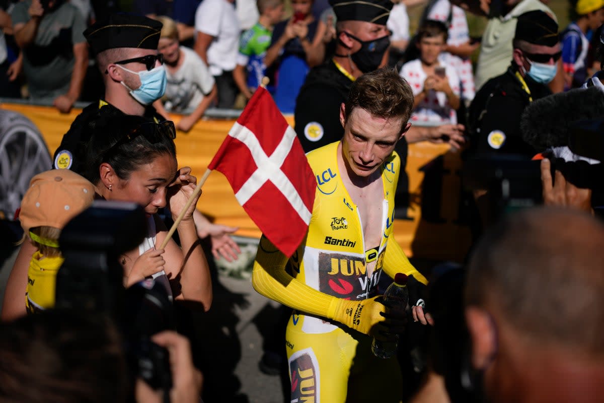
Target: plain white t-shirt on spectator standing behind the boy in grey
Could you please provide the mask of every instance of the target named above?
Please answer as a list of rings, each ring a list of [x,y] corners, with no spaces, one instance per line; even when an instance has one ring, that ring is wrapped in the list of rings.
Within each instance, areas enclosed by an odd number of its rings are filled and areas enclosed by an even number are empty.
[[[208,65],[212,76],[232,71],[239,49],[239,20],[233,3],[227,0],[204,0],[195,13],[195,30],[214,37],[208,48]]]

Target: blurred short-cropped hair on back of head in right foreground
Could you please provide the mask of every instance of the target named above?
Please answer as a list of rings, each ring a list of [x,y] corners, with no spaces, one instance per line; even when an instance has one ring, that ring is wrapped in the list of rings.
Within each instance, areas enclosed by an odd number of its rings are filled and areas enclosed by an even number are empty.
[[[604,225],[593,217],[552,207],[520,211],[478,243],[466,306],[498,314],[538,346],[602,357],[603,259]]]

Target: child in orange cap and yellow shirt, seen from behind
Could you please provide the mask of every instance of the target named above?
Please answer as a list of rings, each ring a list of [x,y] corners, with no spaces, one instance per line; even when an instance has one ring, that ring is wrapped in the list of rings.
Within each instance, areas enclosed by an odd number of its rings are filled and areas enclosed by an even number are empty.
[[[94,185],[68,170],[54,169],[31,179],[21,202],[19,220],[36,247],[27,272],[28,313],[53,308],[57,271],[63,264],[59,235],[65,225],[92,204]]]

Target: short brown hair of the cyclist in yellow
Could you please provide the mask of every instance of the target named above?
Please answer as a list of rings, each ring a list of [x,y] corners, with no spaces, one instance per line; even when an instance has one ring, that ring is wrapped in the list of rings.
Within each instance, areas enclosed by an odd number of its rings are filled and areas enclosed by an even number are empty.
[[[402,118],[404,127],[413,111],[413,91],[395,69],[381,68],[356,79],[344,105],[346,118],[361,108],[374,117]]]

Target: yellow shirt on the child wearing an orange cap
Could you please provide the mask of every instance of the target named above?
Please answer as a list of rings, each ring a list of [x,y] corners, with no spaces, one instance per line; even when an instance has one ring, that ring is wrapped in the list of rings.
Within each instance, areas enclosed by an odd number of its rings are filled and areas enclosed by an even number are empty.
[[[28,313],[54,308],[57,271],[62,264],[62,257],[44,257],[39,251],[33,254],[27,271],[25,291],[25,307]]]

